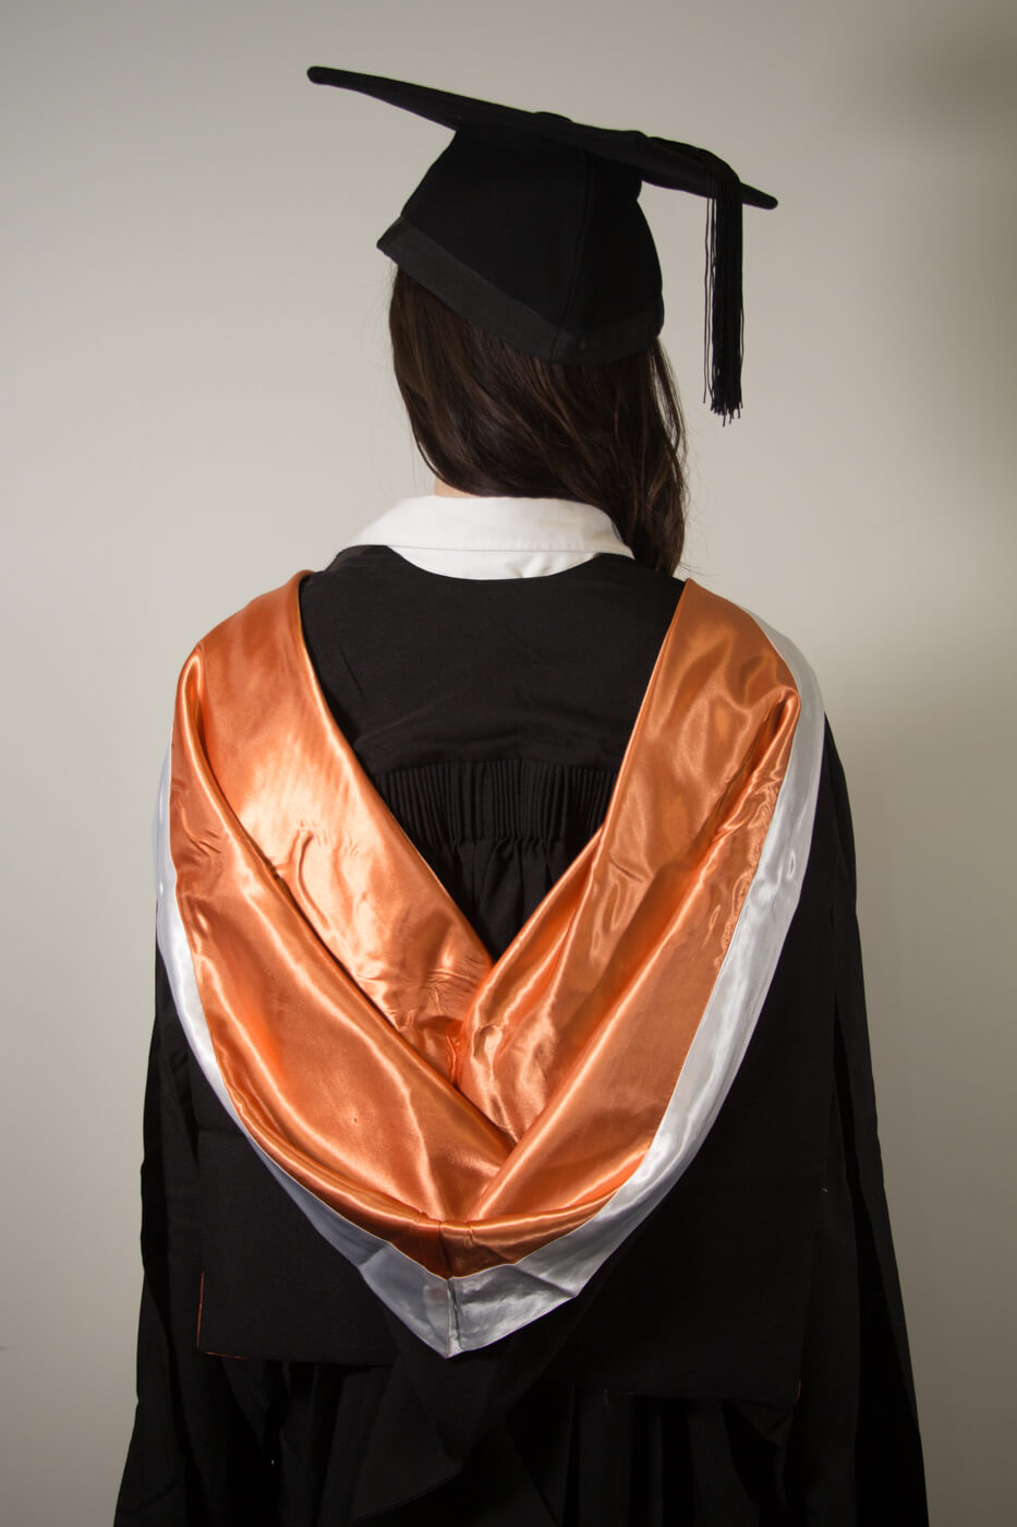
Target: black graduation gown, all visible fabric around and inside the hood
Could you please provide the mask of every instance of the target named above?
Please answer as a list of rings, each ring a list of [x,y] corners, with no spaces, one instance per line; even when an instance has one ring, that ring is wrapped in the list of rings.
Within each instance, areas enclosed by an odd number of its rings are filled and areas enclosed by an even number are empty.
[[[386,547],[302,585],[339,727],[492,956],[600,825],[680,594],[614,556],[470,580]],[[426,1348],[226,1116],[160,960],[142,1199],[121,1527],[927,1521],[829,733],[734,1086],[576,1299],[475,1353]]]

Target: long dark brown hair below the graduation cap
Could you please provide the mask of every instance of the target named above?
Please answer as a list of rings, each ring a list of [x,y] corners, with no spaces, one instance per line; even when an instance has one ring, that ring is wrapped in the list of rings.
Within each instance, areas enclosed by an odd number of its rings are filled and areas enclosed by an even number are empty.
[[[597,365],[539,360],[400,269],[389,331],[414,440],[443,483],[596,504],[638,562],[675,571],[686,534],[684,423],[660,341]]]

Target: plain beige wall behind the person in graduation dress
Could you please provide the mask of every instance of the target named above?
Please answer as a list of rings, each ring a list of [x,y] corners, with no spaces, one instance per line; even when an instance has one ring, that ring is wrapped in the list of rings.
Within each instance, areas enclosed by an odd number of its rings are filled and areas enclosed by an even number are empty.
[[[780,197],[721,429],[704,209],[644,191],[689,570],[818,672],[933,1522],[1012,1521],[1012,8],[8,0],[0,29],[3,1521],[110,1521],[127,1448],[177,669],[429,487],[374,240],[447,139],[312,63],[702,144]]]

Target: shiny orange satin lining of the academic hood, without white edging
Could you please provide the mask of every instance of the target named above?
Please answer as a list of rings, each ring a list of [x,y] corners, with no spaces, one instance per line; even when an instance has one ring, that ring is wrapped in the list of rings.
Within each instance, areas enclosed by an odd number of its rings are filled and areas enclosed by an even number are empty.
[[[751,884],[799,696],[759,626],[687,582],[608,814],[501,959],[321,695],[301,573],[180,676],[170,843],[243,1127],[431,1272],[516,1261],[643,1159]]]

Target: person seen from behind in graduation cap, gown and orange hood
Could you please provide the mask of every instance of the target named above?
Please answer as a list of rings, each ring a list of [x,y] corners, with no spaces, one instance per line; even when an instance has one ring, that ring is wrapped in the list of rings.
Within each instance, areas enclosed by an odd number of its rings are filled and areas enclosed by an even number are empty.
[[[658,270],[599,159],[681,145],[498,137],[567,331],[463,224],[475,107],[382,241],[437,492],[182,672],[118,1524],[919,1524],[844,780],[802,655],[675,576]],[[727,237],[771,205],[715,192]]]

